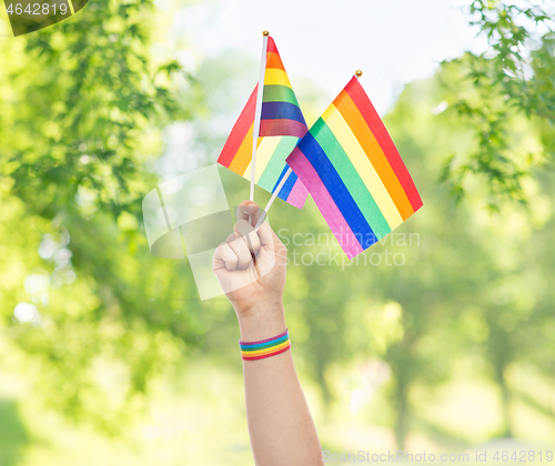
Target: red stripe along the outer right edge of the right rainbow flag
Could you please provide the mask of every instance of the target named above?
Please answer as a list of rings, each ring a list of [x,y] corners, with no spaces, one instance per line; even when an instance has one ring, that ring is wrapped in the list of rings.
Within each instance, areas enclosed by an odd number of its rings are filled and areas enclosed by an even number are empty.
[[[403,190],[406,193],[406,197],[411,202],[414,212],[416,212],[423,205],[418,191],[414,185],[408,170],[406,170],[403,159],[401,159],[401,155],[398,154],[397,148],[395,148],[390,133],[385,129],[382,119],[380,118],[374,105],[366,95],[366,92],[364,92],[364,89],[359,82],[359,79],[353,77],[351,82],[345,87],[345,91],[351,97],[351,99],[353,99],[353,102],[361,111],[362,116],[366,121],[366,124],[374,134],[377,143],[387,158],[390,165],[395,172],[398,182],[403,186]]]

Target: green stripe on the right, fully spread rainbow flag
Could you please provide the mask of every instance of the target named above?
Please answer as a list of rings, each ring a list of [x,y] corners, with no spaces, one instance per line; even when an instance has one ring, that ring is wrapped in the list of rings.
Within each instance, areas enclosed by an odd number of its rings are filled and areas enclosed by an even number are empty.
[[[356,205],[359,205],[364,219],[366,219],[366,222],[369,222],[377,239],[380,240],[391,233],[390,225],[375,203],[374,197],[372,197],[372,194],[364,184],[364,181],[362,181],[361,175],[353,166],[353,163],[349,159],[345,150],[339,143],[325,121],[322,119],[316,121],[316,123],[311,128],[311,134],[323,149],[327,159],[332,162],[333,168],[341,176],[343,183],[345,183],[346,189],[353,196]]]

